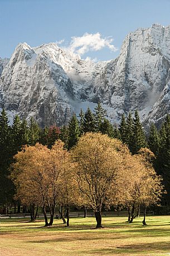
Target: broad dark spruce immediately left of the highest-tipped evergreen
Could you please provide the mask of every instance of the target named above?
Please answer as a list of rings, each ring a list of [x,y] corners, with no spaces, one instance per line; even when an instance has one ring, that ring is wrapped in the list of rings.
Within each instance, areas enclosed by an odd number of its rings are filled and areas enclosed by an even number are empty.
[[[90,108],[88,108],[85,112],[83,125],[84,133],[96,131],[95,117],[94,114],[91,112]]]

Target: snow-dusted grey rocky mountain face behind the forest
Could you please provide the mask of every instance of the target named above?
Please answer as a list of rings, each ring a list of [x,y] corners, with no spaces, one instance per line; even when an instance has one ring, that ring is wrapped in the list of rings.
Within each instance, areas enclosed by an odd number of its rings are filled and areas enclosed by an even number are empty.
[[[113,122],[139,110],[144,124],[170,112],[170,26],[153,24],[125,38],[120,55],[94,63],[55,43],[19,44],[5,68],[0,59],[0,107],[41,126],[64,124],[75,111],[98,101]]]

